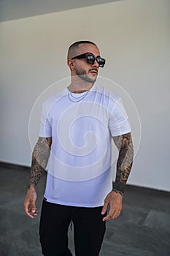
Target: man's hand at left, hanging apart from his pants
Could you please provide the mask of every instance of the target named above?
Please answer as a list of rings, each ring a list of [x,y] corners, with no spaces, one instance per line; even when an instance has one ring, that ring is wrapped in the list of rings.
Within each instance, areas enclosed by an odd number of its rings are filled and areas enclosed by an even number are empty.
[[[26,198],[23,202],[24,210],[28,217],[34,219],[38,215],[38,210],[36,208],[36,191],[35,189],[28,189]]]

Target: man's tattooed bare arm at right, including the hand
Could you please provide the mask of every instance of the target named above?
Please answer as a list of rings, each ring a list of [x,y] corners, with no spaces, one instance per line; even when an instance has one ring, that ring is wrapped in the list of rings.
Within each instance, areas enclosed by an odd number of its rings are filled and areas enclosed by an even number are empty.
[[[113,137],[113,140],[119,151],[119,157],[117,159],[115,184],[112,192],[109,192],[104,200],[104,207],[101,214],[105,214],[107,207],[110,206],[109,213],[107,214],[107,217],[104,217],[104,221],[115,219],[120,215],[120,211],[122,210],[123,192],[134,159],[134,146],[132,143],[131,132]]]

